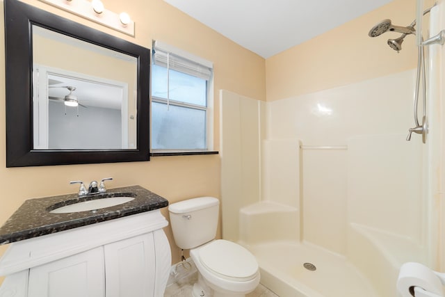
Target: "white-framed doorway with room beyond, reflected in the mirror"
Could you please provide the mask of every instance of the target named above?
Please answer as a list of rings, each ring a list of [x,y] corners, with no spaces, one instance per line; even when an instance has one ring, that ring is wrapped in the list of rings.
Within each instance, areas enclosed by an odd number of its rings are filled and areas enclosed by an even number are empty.
[[[136,149],[127,83],[35,64],[33,74],[34,150]]]

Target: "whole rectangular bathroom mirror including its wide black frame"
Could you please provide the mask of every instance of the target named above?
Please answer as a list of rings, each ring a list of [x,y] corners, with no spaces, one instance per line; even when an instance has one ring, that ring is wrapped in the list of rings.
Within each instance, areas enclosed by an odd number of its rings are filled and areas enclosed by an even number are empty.
[[[149,160],[149,49],[5,0],[6,166]]]

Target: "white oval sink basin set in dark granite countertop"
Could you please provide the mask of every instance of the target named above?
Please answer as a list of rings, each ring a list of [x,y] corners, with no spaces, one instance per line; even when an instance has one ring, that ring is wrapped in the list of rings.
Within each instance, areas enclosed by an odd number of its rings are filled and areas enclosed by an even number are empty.
[[[106,207],[113,207],[119,204],[124,204],[125,202],[129,202],[131,200],[134,200],[134,198],[129,196],[99,198],[99,199],[86,200],[82,202],[65,205],[63,207],[58,207],[56,209],[53,209],[49,212],[51,214],[67,214],[79,211],[89,211],[89,210],[94,211],[96,209],[103,209]]]

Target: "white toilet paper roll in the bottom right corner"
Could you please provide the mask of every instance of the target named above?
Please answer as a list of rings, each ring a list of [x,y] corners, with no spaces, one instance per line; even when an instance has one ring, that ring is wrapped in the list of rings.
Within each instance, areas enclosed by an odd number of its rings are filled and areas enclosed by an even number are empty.
[[[421,287],[437,296],[444,296],[442,282],[430,268],[420,263],[407,262],[401,266],[398,273],[397,290],[402,297],[412,297],[414,287]]]

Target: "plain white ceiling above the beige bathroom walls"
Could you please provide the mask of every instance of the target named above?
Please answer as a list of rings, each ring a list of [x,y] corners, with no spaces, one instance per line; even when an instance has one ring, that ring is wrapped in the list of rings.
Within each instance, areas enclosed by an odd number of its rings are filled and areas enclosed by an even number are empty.
[[[269,58],[392,0],[164,1],[238,45]]]

